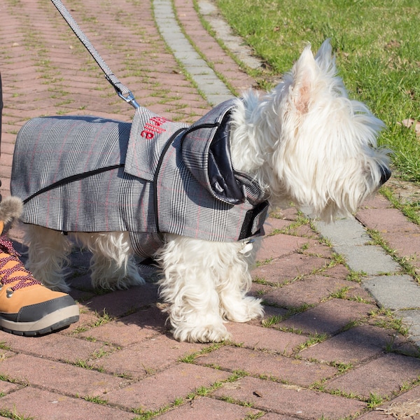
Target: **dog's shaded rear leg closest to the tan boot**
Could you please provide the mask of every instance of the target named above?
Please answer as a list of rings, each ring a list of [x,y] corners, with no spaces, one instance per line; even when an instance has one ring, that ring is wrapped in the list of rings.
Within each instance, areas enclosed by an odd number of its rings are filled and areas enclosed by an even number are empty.
[[[34,277],[52,290],[69,292],[63,272],[69,263],[69,239],[57,230],[26,225],[25,242],[29,245],[27,269]]]

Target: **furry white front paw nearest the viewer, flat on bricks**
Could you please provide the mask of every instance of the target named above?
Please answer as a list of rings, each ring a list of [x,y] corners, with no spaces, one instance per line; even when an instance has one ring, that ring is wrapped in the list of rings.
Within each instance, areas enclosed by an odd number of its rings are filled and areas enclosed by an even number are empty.
[[[190,343],[218,343],[230,339],[230,333],[223,323],[194,328],[179,325],[172,330],[172,334],[175,339]]]

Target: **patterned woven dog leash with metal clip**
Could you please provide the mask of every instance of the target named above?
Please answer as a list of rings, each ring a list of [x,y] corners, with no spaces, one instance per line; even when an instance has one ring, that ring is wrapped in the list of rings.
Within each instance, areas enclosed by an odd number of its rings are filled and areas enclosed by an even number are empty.
[[[111,83],[113,88],[116,90],[118,96],[125,100],[128,104],[134,106],[135,109],[139,108],[140,105],[137,103],[136,99],[130,89],[127,86],[123,85],[123,83],[118,80],[116,75],[111,71],[109,66],[104,62],[104,59],[99,55],[99,52],[94,48],[92,43],[89,41],[89,38],[83,33],[82,29],[78,26],[76,20],[74,20],[73,16],[70,14],[69,10],[66,9],[66,6],[62,3],[61,0],[51,0],[54,6],[57,8],[59,13],[62,15],[64,20],[69,24],[69,27],[73,30],[79,40],[85,45],[87,51],[90,52],[90,55],[94,58],[97,62],[99,67],[101,67],[102,71],[105,73],[106,80]]]

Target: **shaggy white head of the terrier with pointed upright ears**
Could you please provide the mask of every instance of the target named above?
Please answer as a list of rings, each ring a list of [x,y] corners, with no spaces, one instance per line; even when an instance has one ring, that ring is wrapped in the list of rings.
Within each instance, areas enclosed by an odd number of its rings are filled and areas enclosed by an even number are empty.
[[[305,48],[260,105],[274,142],[268,181],[274,202],[291,200],[331,220],[356,211],[391,176],[390,151],[377,147],[384,123],[349,99],[329,41],[315,57]]]

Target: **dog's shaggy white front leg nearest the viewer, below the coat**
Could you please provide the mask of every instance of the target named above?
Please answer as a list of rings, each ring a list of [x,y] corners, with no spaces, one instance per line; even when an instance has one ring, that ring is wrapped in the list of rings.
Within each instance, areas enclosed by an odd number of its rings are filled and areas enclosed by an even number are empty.
[[[216,271],[223,262],[211,243],[168,235],[158,260],[165,274],[160,280],[160,295],[169,303],[174,337],[187,342],[228,339],[217,288]]]

